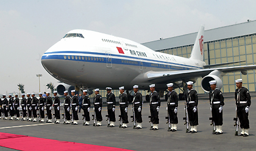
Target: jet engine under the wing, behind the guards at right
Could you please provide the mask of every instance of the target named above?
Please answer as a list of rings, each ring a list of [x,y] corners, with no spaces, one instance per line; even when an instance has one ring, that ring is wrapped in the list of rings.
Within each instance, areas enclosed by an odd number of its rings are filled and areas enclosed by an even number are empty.
[[[218,87],[218,89],[222,88],[222,76],[224,75],[223,72],[220,72],[218,70],[214,70],[213,72],[211,72],[209,75],[205,76],[202,81],[201,81],[201,87],[205,92],[210,92],[211,87],[210,87],[210,81],[212,80],[216,80],[216,87]]]

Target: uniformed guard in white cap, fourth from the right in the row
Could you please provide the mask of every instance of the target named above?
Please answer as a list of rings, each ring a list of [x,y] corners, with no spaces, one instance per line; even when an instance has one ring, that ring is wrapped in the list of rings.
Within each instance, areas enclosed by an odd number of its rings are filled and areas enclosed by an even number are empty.
[[[178,95],[173,90],[173,83],[166,84],[168,87],[169,92],[167,93],[167,107],[166,110],[168,111],[169,116],[169,123],[171,123],[171,129],[168,131],[176,132],[177,131],[177,124],[178,124]]]

